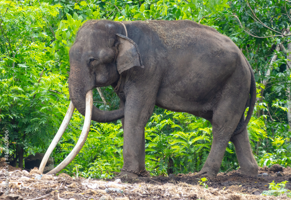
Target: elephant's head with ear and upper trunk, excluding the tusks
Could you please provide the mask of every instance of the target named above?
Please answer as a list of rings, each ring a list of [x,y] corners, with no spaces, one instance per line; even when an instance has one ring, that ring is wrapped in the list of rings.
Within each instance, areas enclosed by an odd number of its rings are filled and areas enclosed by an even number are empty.
[[[112,85],[120,74],[133,66],[142,66],[138,46],[126,35],[120,22],[88,21],[80,28],[70,49],[70,99],[85,115],[87,91]],[[100,110],[93,107],[92,120],[100,119]]]

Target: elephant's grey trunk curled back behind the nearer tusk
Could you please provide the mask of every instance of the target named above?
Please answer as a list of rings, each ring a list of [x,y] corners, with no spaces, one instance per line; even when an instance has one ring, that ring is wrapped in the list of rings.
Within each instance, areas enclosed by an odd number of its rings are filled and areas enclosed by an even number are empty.
[[[94,88],[95,77],[91,77],[89,70],[84,69],[80,64],[71,62],[68,87],[70,99],[76,109],[85,116],[85,99],[87,91]],[[124,117],[124,109],[103,111],[95,106],[92,110],[92,120],[96,122],[112,122]]]

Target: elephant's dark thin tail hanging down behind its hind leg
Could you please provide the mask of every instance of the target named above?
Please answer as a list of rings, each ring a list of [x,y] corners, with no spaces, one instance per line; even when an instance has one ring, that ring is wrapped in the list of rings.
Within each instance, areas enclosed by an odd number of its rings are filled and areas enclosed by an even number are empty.
[[[243,113],[242,118],[239,121],[239,124],[237,125],[233,135],[239,134],[248,125],[248,123],[252,117],[253,110],[255,108],[256,98],[257,98],[257,88],[256,88],[256,83],[255,83],[255,75],[253,73],[253,69],[252,69],[251,65],[249,64],[249,61],[246,59],[246,57],[244,57],[244,59],[246,60],[246,63],[248,64],[249,70],[251,72],[250,105],[249,105],[249,111],[246,115],[246,119],[244,120],[244,113]]]

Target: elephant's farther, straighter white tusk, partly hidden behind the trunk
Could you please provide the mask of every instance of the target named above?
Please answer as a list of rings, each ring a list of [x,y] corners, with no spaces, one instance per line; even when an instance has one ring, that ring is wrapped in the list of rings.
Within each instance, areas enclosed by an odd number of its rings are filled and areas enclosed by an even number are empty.
[[[62,138],[66,128],[68,127],[68,124],[72,118],[73,112],[74,112],[74,105],[72,103],[72,101],[70,102],[70,105],[68,107],[67,113],[63,119],[63,122],[60,126],[60,128],[58,129],[58,132],[56,133],[52,143],[49,145],[49,148],[47,149],[47,152],[45,152],[45,156],[43,156],[42,161],[40,163],[39,166],[39,171],[40,173],[43,172],[45,165],[47,164],[47,161],[49,159],[49,156],[51,155],[51,153],[53,152],[54,148],[56,147],[56,145],[58,144],[58,141],[60,141],[60,139]]]

